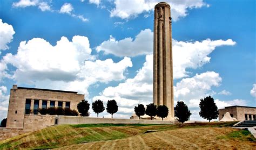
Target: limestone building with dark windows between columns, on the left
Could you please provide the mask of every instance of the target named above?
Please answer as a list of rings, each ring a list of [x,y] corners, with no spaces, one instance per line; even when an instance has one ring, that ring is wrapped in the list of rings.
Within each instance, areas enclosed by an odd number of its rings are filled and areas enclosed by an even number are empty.
[[[83,94],[74,91],[61,91],[37,88],[24,88],[13,85],[6,127],[24,128],[28,115],[38,115],[41,108],[61,107],[77,110],[77,104],[84,99]]]

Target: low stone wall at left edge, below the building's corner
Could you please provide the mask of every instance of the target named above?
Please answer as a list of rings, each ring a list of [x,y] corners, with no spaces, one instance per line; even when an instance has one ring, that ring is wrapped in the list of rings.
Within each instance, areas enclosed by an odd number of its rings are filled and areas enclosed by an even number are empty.
[[[0,141],[24,133],[23,128],[0,127]]]

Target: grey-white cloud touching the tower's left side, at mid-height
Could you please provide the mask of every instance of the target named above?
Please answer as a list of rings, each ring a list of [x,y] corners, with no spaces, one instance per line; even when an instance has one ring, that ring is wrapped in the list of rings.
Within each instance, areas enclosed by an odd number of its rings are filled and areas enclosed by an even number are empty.
[[[117,56],[137,56],[151,54],[153,47],[153,32],[150,29],[140,31],[135,39],[125,38],[117,41],[110,36],[110,39],[97,46],[97,52],[114,54]]]

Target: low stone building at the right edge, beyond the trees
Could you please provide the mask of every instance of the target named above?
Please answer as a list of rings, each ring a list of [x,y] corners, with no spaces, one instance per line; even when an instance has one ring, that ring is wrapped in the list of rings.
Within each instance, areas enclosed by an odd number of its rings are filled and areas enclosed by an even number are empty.
[[[219,109],[219,120],[224,117],[226,112],[230,113],[230,116],[236,118],[239,121],[242,120],[256,120],[256,108],[250,106],[228,106],[224,109]]]

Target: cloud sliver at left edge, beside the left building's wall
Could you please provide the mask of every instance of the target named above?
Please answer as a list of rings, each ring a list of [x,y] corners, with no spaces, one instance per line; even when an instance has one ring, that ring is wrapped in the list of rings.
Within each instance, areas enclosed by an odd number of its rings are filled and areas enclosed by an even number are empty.
[[[6,95],[7,88],[0,87],[0,120],[7,117],[7,110],[9,104],[9,95]]]

